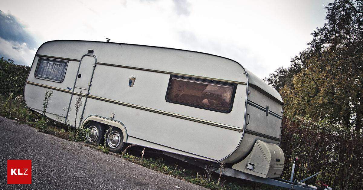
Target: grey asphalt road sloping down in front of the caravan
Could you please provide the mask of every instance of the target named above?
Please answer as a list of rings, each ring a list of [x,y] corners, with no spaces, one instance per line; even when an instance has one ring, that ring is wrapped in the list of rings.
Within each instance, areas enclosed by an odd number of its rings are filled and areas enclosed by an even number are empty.
[[[0,140],[0,189],[205,189],[4,117]],[[7,184],[8,159],[32,160],[32,184]]]

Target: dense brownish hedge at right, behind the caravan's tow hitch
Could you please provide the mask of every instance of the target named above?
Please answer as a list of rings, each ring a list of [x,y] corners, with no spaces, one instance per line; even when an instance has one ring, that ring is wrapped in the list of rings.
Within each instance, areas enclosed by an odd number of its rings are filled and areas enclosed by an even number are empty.
[[[295,178],[321,172],[317,179],[336,189],[363,189],[363,132],[333,122],[313,122],[287,115],[282,121],[281,148],[285,153],[282,177],[290,178],[296,157]],[[315,180],[315,181],[314,181]]]

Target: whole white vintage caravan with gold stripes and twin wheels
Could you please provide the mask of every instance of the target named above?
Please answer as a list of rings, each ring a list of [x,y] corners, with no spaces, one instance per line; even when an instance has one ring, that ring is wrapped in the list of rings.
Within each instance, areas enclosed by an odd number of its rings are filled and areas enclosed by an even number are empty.
[[[91,121],[87,141],[94,143],[102,143],[112,126],[106,142],[114,152],[131,143],[208,165],[223,162],[263,178],[280,177],[284,167],[280,94],[225,57],[146,45],[49,41],[34,57],[26,106],[42,113],[48,90],[53,96],[47,117],[75,127]],[[82,102],[78,109],[76,100]]]

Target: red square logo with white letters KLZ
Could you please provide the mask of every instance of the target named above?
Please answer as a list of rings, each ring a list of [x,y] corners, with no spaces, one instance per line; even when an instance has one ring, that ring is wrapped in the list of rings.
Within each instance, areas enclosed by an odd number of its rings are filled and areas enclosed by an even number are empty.
[[[32,184],[31,159],[8,159],[8,184]]]

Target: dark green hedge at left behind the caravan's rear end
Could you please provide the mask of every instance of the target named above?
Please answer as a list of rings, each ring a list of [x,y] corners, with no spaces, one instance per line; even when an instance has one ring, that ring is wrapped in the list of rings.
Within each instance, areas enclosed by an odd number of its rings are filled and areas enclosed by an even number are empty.
[[[29,66],[16,65],[13,60],[0,58],[0,94],[23,94]]]

